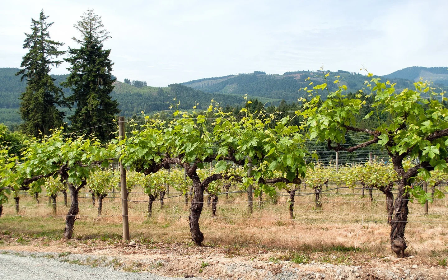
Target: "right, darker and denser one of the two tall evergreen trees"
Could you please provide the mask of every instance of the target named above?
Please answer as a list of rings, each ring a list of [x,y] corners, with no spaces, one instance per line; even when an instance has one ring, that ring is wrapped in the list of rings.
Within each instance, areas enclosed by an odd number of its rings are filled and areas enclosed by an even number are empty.
[[[69,118],[71,129],[78,134],[93,134],[101,140],[108,140],[112,138],[110,133],[116,130],[111,124],[112,119],[120,112],[118,102],[110,95],[116,80],[111,74],[111,50],[103,49],[103,42],[110,38],[109,32],[93,10],[84,12],[74,27],[82,37],[73,40],[81,47],[69,48],[69,58],[65,61],[71,64],[67,68],[70,74],[67,82],[63,83],[73,91],[67,102],[71,105],[76,103],[75,113]]]

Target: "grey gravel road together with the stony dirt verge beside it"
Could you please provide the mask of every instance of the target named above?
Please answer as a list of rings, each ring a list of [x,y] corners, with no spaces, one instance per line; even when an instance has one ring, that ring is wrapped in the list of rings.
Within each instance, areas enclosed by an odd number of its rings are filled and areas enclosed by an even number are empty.
[[[182,243],[137,244],[111,241],[33,239],[19,244],[0,238],[0,279],[345,279],[448,280],[448,267],[418,257],[358,256],[345,262],[293,263],[281,251],[196,247]]]

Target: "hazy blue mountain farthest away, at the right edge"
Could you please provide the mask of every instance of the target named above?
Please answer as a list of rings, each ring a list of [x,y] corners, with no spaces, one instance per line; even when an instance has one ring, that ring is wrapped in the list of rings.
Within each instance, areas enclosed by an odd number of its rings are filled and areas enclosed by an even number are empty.
[[[420,78],[448,86],[448,67],[407,67],[384,76],[388,79],[407,79],[417,82]]]

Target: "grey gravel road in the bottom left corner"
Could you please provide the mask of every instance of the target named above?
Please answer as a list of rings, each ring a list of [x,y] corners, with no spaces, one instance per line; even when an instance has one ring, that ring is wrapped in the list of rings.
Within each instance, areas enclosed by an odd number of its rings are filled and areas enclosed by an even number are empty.
[[[91,267],[64,263],[57,259],[26,254],[0,254],[0,279],[60,279],[60,280],[179,280],[185,278],[157,276],[149,272],[116,271],[112,267]],[[199,280],[194,277],[189,279]]]

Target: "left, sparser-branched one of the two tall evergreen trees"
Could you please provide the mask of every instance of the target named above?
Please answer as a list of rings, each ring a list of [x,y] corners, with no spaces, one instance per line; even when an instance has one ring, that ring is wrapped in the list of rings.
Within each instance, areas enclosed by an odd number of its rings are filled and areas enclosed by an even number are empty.
[[[23,56],[22,70],[16,73],[16,76],[22,75],[22,81],[24,78],[27,81],[20,97],[21,129],[23,133],[34,136],[40,132],[50,134],[50,129],[63,125],[65,116],[56,108],[56,105],[63,105],[63,92],[54,84],[55,79],[50,77],[50,66],[59,66],[62,61],[55,59],[65,52],[57,49],[63,43],[50,39],[48,28],[53,22],[46,22],[47,18],[43,11],[39,14],[39,20],[31,18],[31,33],[25,33],[23,44],[29,52]]]

